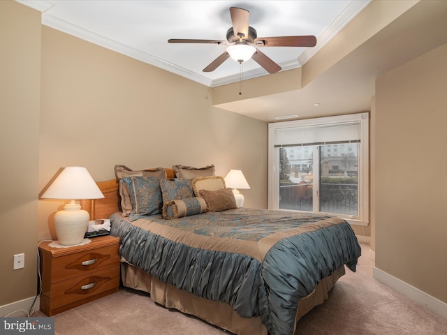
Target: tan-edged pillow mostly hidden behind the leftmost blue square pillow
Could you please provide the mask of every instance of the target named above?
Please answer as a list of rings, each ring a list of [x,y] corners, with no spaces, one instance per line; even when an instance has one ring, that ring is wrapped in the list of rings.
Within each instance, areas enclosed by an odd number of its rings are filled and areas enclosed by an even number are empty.
[[[158,177],[160,179],[166,179],[166,170],[164,168],[152,168],[152,169],[134,171],[126,167],[125,165],[115,165],[115,175],[117,176],[118,179],[131,176]],[[129,214],[131,214],[132,211],[132,203],[126,183],[119,183],[119,196],[121,197],[122,214],[123,216],[129,216]]]

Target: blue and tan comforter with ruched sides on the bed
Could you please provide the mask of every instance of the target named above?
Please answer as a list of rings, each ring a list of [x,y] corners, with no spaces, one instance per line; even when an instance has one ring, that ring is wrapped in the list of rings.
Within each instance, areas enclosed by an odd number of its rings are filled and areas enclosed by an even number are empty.
[[[333,216],[230,209],[164,220],[110,217],[120,253],[161,281],[260,316],[269,334],[293,334],[300,299],[346,265],[356,271],[360,246]]]

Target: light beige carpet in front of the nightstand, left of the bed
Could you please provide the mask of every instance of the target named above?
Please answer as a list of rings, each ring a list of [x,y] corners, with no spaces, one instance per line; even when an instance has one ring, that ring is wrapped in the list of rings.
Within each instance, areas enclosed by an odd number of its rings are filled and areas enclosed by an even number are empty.
[[[142,292],[123,288],[70,311],[54,315],[57,335],[222,335],[202,320],[170,311]]]

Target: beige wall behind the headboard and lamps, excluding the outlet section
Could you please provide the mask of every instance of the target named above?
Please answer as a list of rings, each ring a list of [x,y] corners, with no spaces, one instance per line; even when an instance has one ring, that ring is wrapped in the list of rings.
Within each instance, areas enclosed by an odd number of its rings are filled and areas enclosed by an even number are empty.
[[[210,89],[135,59],[42,28],[39,186],[68,165],[96,181],[129,168],[242,170],[247,207],[266,207],[267,124],[212,107]],[[39,239],[52,234],[62,202],[39,202]]]

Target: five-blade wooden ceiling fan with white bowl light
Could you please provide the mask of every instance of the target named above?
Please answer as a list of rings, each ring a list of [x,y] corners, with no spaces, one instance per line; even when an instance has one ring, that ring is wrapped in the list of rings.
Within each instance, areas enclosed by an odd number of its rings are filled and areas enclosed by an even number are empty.
[[[268,73],[277,73],[281,66],[267,57],[256,47],[314,47],[315,36],[277,36],[260,37],[256,30],[249,26],[249,11],[230,7],[230,16],[233,27],[226,32],[226,40],[192,40],[192,39],[170,39],[168,43],[211,43],[217,45],[229,45],[223,54],[214,59],[203,72],[212,72],[228,58],[242,63],[252,58],[261,65]],[[256,46],[256,47],[255,47]]]

